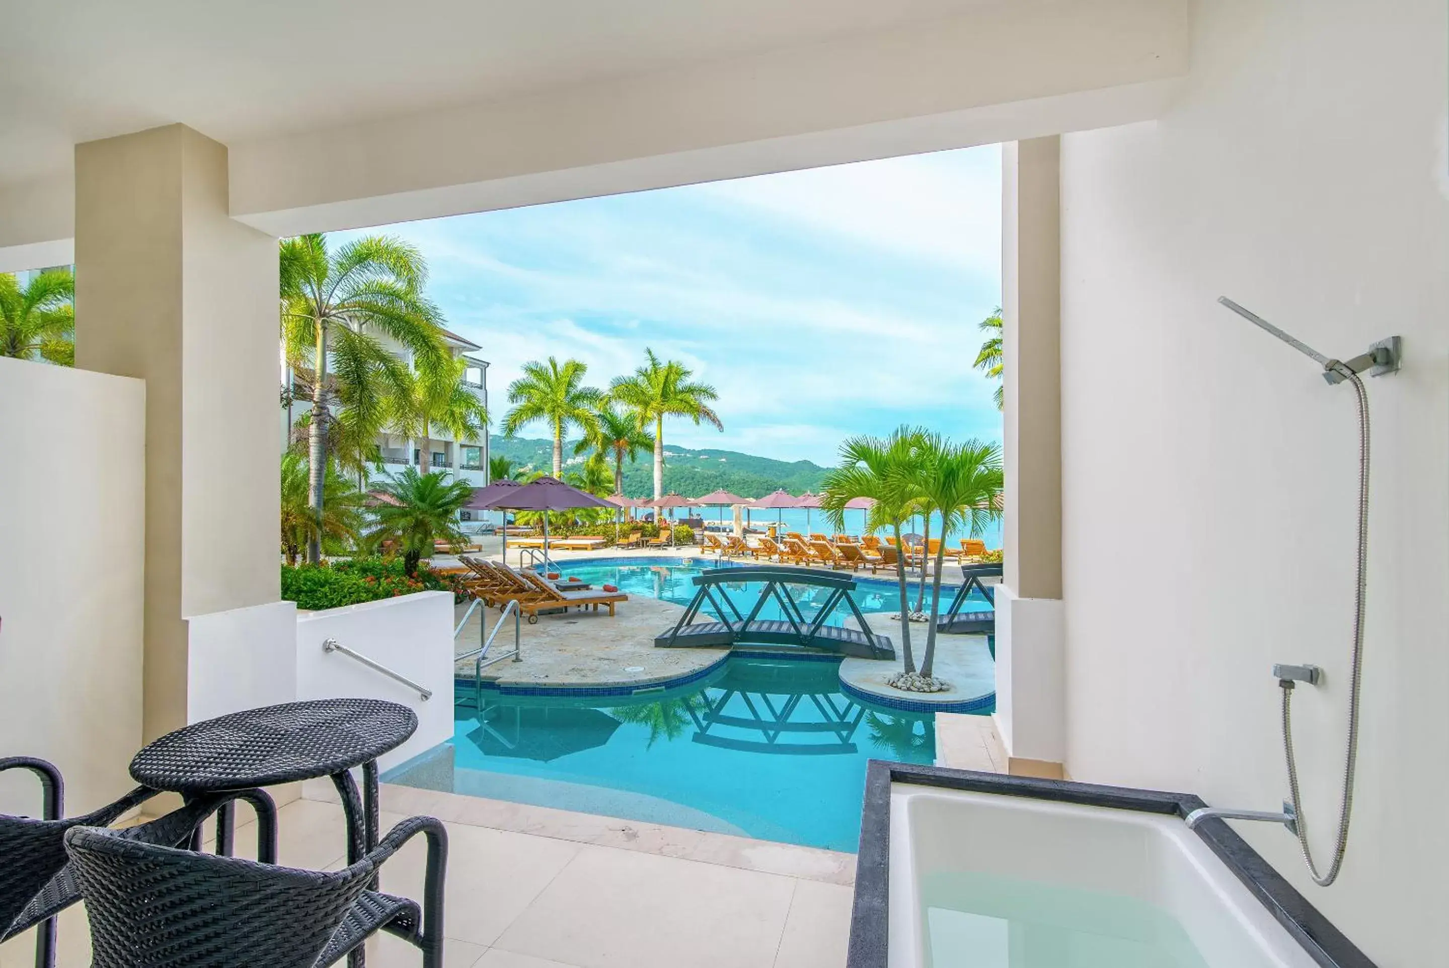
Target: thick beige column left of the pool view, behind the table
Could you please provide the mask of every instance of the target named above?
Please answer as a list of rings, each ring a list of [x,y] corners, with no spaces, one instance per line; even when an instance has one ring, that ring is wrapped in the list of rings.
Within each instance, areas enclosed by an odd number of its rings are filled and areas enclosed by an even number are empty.
[[[75,364],[146,381],[146,739],[187,720],[187,616],[277,601],[277,241],[181,125],[75,148]],[[103,562],[104,564],[104,562]]]

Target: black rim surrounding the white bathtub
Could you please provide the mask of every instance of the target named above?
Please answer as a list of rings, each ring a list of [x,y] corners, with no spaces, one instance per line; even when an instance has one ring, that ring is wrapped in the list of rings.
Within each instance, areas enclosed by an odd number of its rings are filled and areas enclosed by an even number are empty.
[[[1142,810],[1187,817],[1207,806],[1194,794],[1100,787],[1064,780],[1035,780],[969,769],[914,767],[872,759],[865,777],[861,845],[855,867],[855,907],[846,968],[885,968],[890,904],[891,784],[1032,797],[1090,807]],[[1243,883],[1279,925],[1323,968],[1375,968],[1343,932],[1335,927],[1261,854],[1223,820],[1200,823],[1197,833],[1217,859]]]

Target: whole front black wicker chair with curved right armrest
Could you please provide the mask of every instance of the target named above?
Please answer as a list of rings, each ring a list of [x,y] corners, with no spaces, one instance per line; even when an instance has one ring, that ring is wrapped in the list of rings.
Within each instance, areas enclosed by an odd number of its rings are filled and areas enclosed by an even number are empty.
[[[177,851],[120,833],[65,835],[90,916],[93,968],[322,968],[380,929],[420,948],[425,968],[442,968],[448,835],[433,817],[403,820],[341,871]],[[427,836],[423,904],[367,890],[383,861],[417,833]]]

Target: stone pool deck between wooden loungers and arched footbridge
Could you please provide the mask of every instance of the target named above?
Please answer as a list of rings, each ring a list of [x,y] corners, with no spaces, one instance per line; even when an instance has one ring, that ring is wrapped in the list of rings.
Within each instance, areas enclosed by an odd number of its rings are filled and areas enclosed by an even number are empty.
[[[467,604],[456,606],[455,623],[462,620]],[[454,641],[454,654],[477,649],[481,643],[478,623],[487,614],[487,629],[498,620],[497,609],[480,609],[468,619],[462,635]],[[635,687],[643,688],[701,672],[719,662],[727,649],[656,649],[653,636],[668,629],[684,613],[684,606],[658,598],[630,596],[610,617],[604,610],[571,610],[540,614],[538,625],[523,622],[520,662],[503,659],[483,671],[484,680],[500,687]],[[485,635],[485,633],[484,633]],[[513,648],[513,619],[498,632],[490,655]],[[472,659],[462,659],[456,674],[472,678]]]

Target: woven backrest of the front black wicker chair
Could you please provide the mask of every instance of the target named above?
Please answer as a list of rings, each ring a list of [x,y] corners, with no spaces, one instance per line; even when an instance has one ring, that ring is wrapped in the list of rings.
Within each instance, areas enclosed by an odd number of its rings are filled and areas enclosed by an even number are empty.
[[[138,843],[113,830],[65,835],[90,916],[93,968],[312,968],[374,871],[297,871]]]

